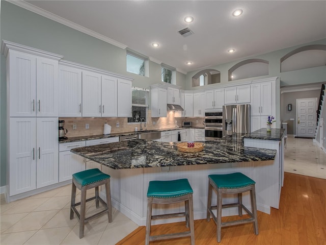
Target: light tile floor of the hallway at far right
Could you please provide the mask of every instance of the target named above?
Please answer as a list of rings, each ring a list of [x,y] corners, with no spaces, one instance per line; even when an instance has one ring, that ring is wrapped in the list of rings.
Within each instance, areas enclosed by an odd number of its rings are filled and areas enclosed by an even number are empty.
[[[284,171],[326,179],[326,153],[312,139],[288,137]]]

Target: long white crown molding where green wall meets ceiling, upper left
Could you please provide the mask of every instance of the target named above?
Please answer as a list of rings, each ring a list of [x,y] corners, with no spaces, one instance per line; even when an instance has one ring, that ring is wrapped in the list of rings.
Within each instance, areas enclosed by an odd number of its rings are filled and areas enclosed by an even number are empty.
[[[117,47],[120,47],[122,49],[125,49],[127,47],[127,45],[125,45],[123,43],[117,42],[117,41],[115,41],[115,40],[113,40],[111,38],[108,38],[108,37],[106,37],[106,36],[104,36],[102,34],[99,34],[99,33],[94,32],[94,31],[92,31],[92,30],[90,30],[88,28],[80,26],[79,24],[76,24],[76,23],[74,23],[74,22],[72,22],[70,20],[62,18],[62,17],[60,17],[60,16],[58,16],[56,14],[52,14],[52,13],[50,13],[50,12],[44,10],[44,9],[41,9],[39,7],[36,7],[36,6],[32,5],[32,4],[26,3],[25,1],[22,1],[22,0],[6,0],[6,1],[11,3],[11,4],[17,5],[17,6],[21,7],[21,8],[24,8],[26,10],[32,11],[32,12],[34,12],[36,14],[42,15],[42,16],[48,18],[48,19],[57,21],[57,22],[59,22],[61,24],[64,24],[65,26],[70,27],[72,29],[75,29],[75,30],[77,30],[79,32],[83,32],[83,33],[85,33],[87,35],[90,35],[92,37],[100,39],[100,40],[102,40],[104,42],[107,42],[107,43],[110,43],[110,44],[115,45]]]

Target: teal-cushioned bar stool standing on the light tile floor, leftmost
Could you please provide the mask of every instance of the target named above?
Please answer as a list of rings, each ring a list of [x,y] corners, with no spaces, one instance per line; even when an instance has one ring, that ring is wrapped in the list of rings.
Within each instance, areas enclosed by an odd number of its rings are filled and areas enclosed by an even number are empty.
[[[112,207],[111,207],[111,192],[110,192],[110,175],[102,173],[98,168],[92,168],[81,171],[72,175],[72,188],[71,188],[71,204],[70,204],[70,219],[73,219],[76,213],[79,219],[79,238],[84,236],[84,225],[91,218],[98,217],[103,213],[107,213],[108,223],[112,222]],[[105,185],[106,203],[98,195],[98,187]],[[79,203],[75,203],[76,187],[81,190],[82,197]],[[95,188],[95,197],[86,199],[86,190]],[[99,201],[104,205],[105,209],[93,214],[90,217],[85,217],[86,202],[95,199],[96,208],[99,207]],[[76,206],[80,205],[80,214]]]

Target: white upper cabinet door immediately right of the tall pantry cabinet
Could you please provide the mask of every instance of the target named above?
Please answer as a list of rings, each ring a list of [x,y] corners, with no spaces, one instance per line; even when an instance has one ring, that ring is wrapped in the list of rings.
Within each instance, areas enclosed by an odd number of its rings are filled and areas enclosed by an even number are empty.
[[[59,116],[82,116],[82,70],[59,65]]]

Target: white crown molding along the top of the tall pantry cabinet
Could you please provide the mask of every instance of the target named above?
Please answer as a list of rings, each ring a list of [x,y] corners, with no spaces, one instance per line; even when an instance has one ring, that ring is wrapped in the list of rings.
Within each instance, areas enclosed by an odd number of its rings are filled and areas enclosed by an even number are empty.
[[[20,52],[28,53],[31,55],[37,55],[37,56],[41,56],[41,57],[45,57],[45,58],[49,58],[49,59],[53,59],[53,60],[61,60],[63,58],[62,55],[57,55],[57,54],[53,54],[53,53],[50,53],[47,51],[38,50],[37,48],[34,48],[34,47],[29,47],[29,46],[21,45],[18,43],[2,40],[1,53],[6,58],[7,58],[9,50],[20,51]]]

